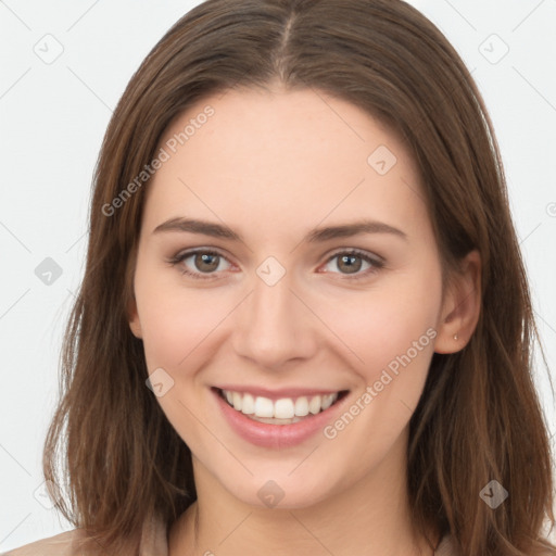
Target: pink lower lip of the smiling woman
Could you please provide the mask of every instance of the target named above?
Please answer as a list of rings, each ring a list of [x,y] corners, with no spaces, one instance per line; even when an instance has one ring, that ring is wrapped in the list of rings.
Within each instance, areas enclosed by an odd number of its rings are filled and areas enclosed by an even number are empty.
[[[313,437],[316,432],[324,430],[346,399],[346,396],[343,396],[328,409],[317,415],[305,417],[302,421],[291,425],[270,425],[250,419],[247,415],[233,409],[217,390],[213,389],[213,393],[224,417],[242,439],[257,446],[275,448],[295,446]]]

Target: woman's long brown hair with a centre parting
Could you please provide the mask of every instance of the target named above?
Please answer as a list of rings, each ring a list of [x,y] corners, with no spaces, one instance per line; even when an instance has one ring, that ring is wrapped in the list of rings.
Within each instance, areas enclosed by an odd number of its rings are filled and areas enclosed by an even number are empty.
[[[401,0],[207,0],[132,76],[96,169],[63,396],[45,444],[51,495],[55,485],[65,491],[56,506],[106,551],[127,554],[146,518],[169,526],[195,500],[191,453],[146,387],[143,346],[126,312],[148,180],[123,191],[193,103],[274,81],[352,102],[400,132],[421,173],[444,267],[472,249],[482,258],[476,331],[462,351],[433,355],[410,420],[416,527],[451,532],[462,556],[554,548],[541,535],[544,519],[554,526],[554,478],[531,375],[540,339],[492,123],[454,48]],[[492,480],[509,493],[496,509],[480,496]]]

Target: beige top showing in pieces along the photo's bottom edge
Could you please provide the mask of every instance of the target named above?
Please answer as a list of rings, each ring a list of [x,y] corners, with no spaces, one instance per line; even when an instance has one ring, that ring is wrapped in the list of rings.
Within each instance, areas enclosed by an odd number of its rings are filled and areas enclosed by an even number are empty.
[[[73,541],[79,538],[81,530],[73,529],[65,533],[49,536],[30,544],[25,544],[0,556],[81,556],[73,546]],[[450,535],[444,536],[435,556],[454,556]],[[138,556],[168,556],[168,539],[166,525],[159,518],[146,522]]]

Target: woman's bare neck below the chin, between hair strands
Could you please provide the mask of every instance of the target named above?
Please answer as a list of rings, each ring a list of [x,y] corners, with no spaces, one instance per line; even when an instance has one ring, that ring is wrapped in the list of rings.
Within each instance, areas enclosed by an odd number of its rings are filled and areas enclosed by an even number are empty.
[[[247,505],[198,466],[198,501],[173,526],[169,556],[432,556],[412,523],[405,444],[394,450],[401,452],[308,507]]]

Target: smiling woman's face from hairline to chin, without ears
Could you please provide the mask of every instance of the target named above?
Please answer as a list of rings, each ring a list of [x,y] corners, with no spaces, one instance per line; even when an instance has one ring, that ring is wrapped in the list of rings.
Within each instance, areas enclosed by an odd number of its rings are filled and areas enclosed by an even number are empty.
[[[130,326],[195,480],[301,507],[400,467],[446,314],[403,143],[325,93],[230,90],[159,148]]]

